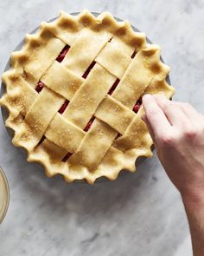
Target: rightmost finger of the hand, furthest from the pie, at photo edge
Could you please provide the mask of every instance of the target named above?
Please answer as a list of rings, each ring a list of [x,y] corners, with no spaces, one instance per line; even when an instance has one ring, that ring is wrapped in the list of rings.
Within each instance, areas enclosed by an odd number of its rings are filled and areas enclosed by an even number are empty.
[[[182,112],[187,116],[187,118],[194,123],[194,121],[201,121],[203,115],[197,112],[193,106],[186,102],[175,102],[181,109]]]

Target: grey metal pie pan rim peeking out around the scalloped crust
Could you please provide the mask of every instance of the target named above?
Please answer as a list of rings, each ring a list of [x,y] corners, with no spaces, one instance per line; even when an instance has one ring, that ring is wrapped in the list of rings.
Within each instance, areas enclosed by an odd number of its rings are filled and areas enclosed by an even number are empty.
[[[77,15],[79,15],[79,14],[80,14],[80,12],[73,12],[73,13],[70,13],[70,15],[73,15],[73,16],[77,16]],[[92,15],[94,15],[94,16],[99,16],[100,14],[101,14],[101,13],[99,13],[99,12],[92,12]],[[50,20],[48,21],[48,23],[53,22],[53,21],[56,20],[57,18],[58,18],[58,16],[56,16],[56,17],[50,19]],[[120,18],[118,18],[118,17],[116,17],[116,16],[114,16],[114,18],[115,18],[118,22],[123,22],[123,21],[124,21],[124,20],[122,20],[122,19],[120,19]],[[135,32],[141,32],[140,30],[138,30],[138,29],[137,29],[135,26],[133,26],[133,25],[131,25],[131,28],[132,28],[132,30],[134,30]],[[32,30],[29,34],[35,34],[35,32],[36,32],[38,29],[39,29],[39,27],[35,28],[35,30]],[[149,39],[147,36],[146,36],[146,41],[147,41],[147,43],[152,44],[152,42],[150,41],[150,39]],[[16,48],[14,49],[14,51],[17,51],[17,50],[22,49],[23,44],[24,44],[24,40],[22,40],[20,43],[17,44],[17,46],[16,46]],[[164,63],[162,56],[161,56],[161,61]],[[4,71],[7,71],[7,70],[9,70],[9,69],[10,69],[10,59],[9,59],[9,61],[7,62]],[[170,84],[169,75],[167,76],[167,82]],[[2,85],[1,85],[1,91],[0,91],[0,97],[1,97],[5,92],[6,92],[6,89],[5,89],[5,87],[4,87],[3,83],[2,83]],[[7,117],[8,117],[8,111],[7,111],[6,108],[2,108],[2,116],[3,116],[3,121],[5,122],[6,119],[7,119]],[[7,128],[7,127],[6,127],[6,129],[7,129],[8,134],[9,134],[10,137],[12,138],[12,137],[13,137],[13,130],[10,129],[10,128]],[[22,149],[22,148],[19,148],[19,150],[21,150],[21,151],[22,151],[22,154],[24,155],[24,157],[27,158],[27,153],[26,153],[26,151],[25,151],[24,149]],[[136,161],[136,166],[138,167],[145,159],[146,159],[145,157],[139,157],[139,158],[137,159],[137,161]],[[32,163],[31,163],[31,164],[32,164]],[[41,167],[40,164],[38,164],[38,166]],[[41,168],[42,168],[42,167],[41,167]],[[127,174],[127,171],[126,171],[126,170],[122,170],[122,171],[119,173],[119,176],[118,176],[118,177],[122,177],[122,176],[124,176],[124,174]],[[59,175],[60,175],[60,174],[59,174]],[[59,176],[59,175],[57,174],[57,176]],[[99,178],[99,179],[96,180],[96,182],[103,182],[103,181],[109,181],[109,180],[108,180],[107,178],[105,178],[105,177],[101,177],[101,178]],[[76,181],[74,181],[74,182],[77,182],[77,183],[78,183],[78,182],[79,182],[79,183],[84,183],[84,181],[80,181],[80,180],[79,180],[79,181],[76,180]]]

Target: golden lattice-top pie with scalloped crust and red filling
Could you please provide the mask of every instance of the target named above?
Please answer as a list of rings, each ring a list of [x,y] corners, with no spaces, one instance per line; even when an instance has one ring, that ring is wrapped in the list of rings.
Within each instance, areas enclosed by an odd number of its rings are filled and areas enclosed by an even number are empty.
[[[152,155],[141,97],[171,98],[175,89],[160,47],[127,21],[61,11],[25,37],[10,67],[0,99],[9,111],[5,124],[14,130],[13,144],[48,176],[115,180],[122,169],[134,172],[138,157]]]

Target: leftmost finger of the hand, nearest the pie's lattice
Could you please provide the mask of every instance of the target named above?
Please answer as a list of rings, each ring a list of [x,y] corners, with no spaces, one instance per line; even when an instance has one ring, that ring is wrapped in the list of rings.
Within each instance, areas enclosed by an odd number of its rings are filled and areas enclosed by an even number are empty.
[[[152,95],[143,95],[143,108],[155,136],[170,129],[169,121]]]

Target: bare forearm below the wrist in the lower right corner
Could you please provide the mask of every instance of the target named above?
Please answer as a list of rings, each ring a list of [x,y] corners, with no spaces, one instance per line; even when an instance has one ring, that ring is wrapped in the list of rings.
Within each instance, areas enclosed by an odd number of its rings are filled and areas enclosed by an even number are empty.
[[[183,194],[188,216],[194,256],[204,255],[204,194]]]

